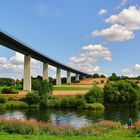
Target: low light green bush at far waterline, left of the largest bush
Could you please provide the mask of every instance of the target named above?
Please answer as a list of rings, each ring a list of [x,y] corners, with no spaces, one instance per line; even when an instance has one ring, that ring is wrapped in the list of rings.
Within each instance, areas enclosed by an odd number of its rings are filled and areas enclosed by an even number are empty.
[[[105,107],[101,103],[85,104],[85,109],[89,110],[104,110]]]

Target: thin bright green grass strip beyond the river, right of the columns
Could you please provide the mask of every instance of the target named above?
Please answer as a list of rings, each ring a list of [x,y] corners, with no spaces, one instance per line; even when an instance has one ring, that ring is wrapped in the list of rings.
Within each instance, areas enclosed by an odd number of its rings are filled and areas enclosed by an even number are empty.
[[[91,88],[83,88],[83,87],[54,87],[55,91],[79,91],[79,90],[90,90]]]

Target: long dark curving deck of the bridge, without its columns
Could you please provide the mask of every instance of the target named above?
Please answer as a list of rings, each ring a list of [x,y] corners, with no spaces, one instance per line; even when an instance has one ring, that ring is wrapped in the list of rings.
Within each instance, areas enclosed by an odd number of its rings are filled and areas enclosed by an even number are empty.
[[[69,66],[66,66],[66,65],[48,57],[47,55],[44,55],[43,53],[40,53],[39,51],[29,47],[25,43],[15,39],[14,37],[11,37],[11,35],[5,33],[1,29],[0,29],[0,44],[9,49],[22,53],[24,55],[31,55],[31,57],[36,60],[39,60],[41,62],[46,62],[52,66],[59,67],[63,70],[70,71],[70,72],[76,73],[76,74],[80,74],[82,76],[91,76],[90,74],[73,69]]]

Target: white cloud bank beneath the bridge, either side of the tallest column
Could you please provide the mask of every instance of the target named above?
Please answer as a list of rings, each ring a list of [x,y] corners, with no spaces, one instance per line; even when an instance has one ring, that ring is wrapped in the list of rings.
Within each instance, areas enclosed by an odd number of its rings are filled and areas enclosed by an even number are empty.
[[[0,73],[5,73],[8,75],[17,75],[17,78],[23,77],[23,63],[24,63],[24,55],[16,52],[14,56],[11,58],[0,57]],[[34,59],[31,59],[31,73],[32,76],[39,75],[40,72],[40,63]]]

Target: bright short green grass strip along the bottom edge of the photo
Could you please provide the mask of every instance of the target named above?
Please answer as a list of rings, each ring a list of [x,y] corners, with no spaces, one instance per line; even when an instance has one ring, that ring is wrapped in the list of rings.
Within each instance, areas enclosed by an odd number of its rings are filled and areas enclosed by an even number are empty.
[[[0,133],[1,140],[139,140],[129,136],[129,130],[114,131],[105,136],[53,136],[53,135],[17,135]]]

